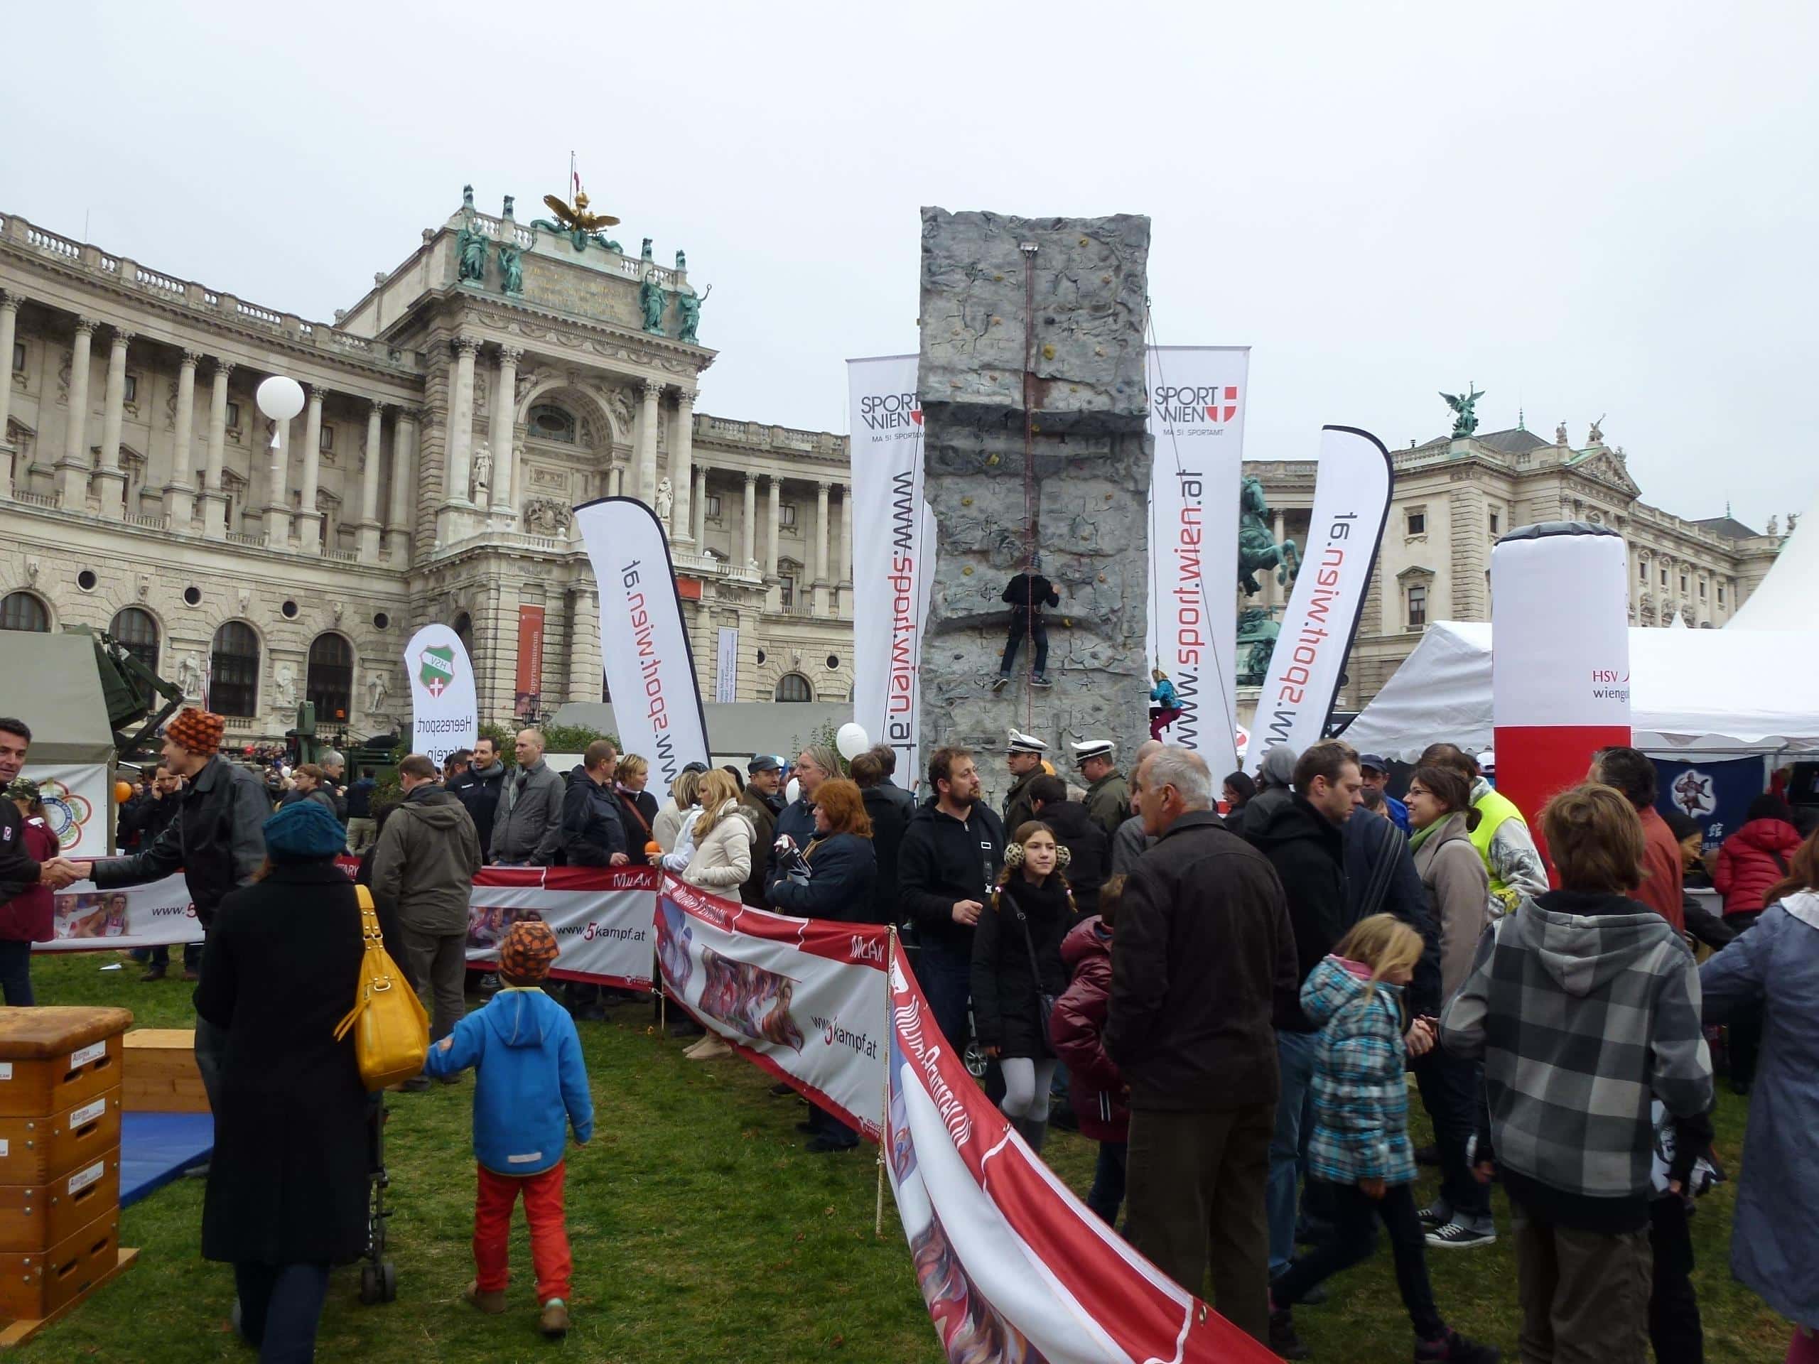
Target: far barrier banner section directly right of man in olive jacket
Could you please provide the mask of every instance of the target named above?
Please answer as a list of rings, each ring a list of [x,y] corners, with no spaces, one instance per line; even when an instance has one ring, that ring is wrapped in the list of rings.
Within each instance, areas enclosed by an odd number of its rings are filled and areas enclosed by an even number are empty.
[[[657,868],[482,868],[467,902],[467,966],[495,969],[520,918],[540,918],[562,953],[549,975],[651,988]]]

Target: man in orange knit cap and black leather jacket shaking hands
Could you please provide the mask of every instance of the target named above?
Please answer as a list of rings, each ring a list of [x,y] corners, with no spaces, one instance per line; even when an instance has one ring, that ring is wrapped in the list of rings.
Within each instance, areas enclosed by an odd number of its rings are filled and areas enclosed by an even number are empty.
[[[271,800],[256,775],[220,757],[227,722],[196,707],[178,711],[164,731],[164,766],[189,782],[182,809],[149,847],[131,857],[76,862],[78,875],[98,889],[144,886],[175,871],[184,873],[202,933],[215,922],[215,909],[227,893],[249,886],[266,864],[264,824]],[[93,869],[91,869],[93,868]],[[186,969],[186,978],[196,971]],[[196,1069],[215,1108],[220,1086],[226,1029],[196,1017]]]

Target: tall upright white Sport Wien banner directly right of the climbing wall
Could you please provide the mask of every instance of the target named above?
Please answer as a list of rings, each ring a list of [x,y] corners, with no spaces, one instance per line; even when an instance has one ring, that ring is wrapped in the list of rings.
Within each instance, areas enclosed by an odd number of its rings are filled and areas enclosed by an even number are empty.
[[[1150,627],[1144,651],[1175,684],[1164,740],[1237,767],[1239,487],[1248,346],[1151,346]]]

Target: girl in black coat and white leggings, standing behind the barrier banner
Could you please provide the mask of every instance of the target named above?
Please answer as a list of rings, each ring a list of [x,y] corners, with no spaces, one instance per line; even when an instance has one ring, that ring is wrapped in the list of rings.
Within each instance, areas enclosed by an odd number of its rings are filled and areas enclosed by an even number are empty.
[[[1019,827],[973,933],[973,1028],[1004,1071],[1004,1117],[1033,1151],[1048,1135],[1055,1078],[1048,1017],[1068,988],[1060,940],[1073,928],[1075,908],[1066,864],[1068,849],[1051,827],[1040,820]]]

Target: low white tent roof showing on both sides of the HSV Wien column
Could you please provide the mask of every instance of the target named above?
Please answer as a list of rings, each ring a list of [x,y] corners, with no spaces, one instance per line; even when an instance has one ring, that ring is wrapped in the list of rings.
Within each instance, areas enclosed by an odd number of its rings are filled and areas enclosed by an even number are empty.
[[[1441,620],[1346,727],[1359,751],[1413,758],[1492,746],[1492,629]],[[1819,631],[1632,629],[1637,747],[1819,749]]]

